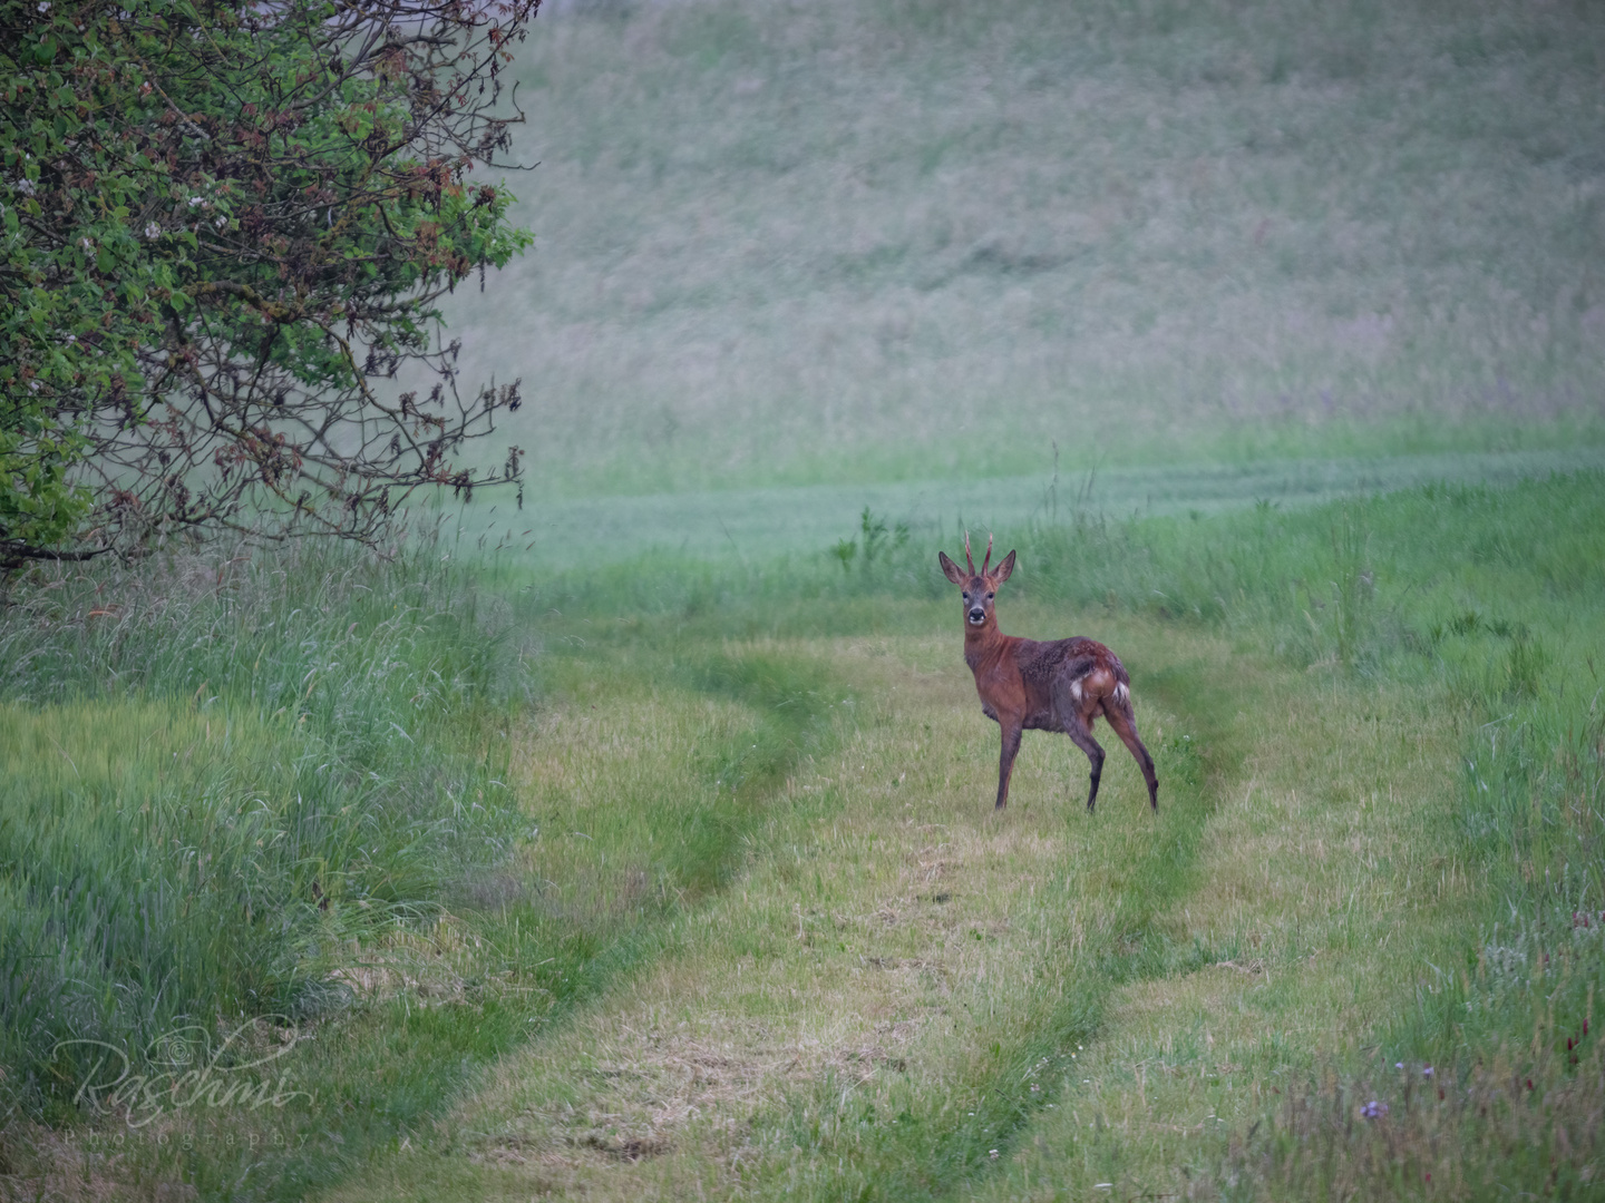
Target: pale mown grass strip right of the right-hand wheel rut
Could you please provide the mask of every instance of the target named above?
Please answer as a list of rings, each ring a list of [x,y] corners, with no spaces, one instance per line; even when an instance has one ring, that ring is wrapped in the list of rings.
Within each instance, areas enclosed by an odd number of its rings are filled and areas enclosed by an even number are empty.
[[[1454,707],[1427,687],[1262,682],[1242,784],[1159,921],[1205,954],[1111,994],[1085,1083],[1038,1113],[981,1198],[1229,1193],[1244,1137],[1289,1088],[1371,1065],[1388,1017],[1464,946],[1480,887],[1446,839]]]

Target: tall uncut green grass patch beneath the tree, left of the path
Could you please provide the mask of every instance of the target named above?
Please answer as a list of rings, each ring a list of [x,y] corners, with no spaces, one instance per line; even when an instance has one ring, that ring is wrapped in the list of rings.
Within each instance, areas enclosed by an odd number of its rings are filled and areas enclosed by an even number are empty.
[[[316,1014],[342,942],[507,836],[498,608],[421,549],[63,569],[0,614],[0,1099]]]

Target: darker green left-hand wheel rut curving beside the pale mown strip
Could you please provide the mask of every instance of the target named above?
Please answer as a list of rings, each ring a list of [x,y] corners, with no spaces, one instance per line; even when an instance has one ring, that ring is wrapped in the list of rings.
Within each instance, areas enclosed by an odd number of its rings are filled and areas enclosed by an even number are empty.
[[[672,946],[676,924],[738,873],[796,764],[830,746],[833,707],[851,696],[817,661],[782,654],[679,643],[669,664],[637,658],[620,670],[607,661],[587,653],[554,670],[567,674],[567,709],[589,720],[591,698],[629,701],[652,688],[671,717],[711,706],[727,730],[708,739],[687,728],[689,776],[645,773],[628,799],[605,799],[632,807],[612,839],[600,828],[597,839],[565,832],[586,855],[565,863],[563,889],[531,877],[539,865],[526,845],[522,860],[467,882],[433,929],[403,926],[390,945],[366,950],[363,980],[377,983],[369,996],[281,1062],[316,1094],[313,1107],[210,1115],[209,1126],[191,1124],[201,1139],[186,1142],[189,1128],[165,1132],[125,1169],[181,1181],[202,1198],[299,1200],[372,1174],[396,1150],[427,1147],[486,1065],[560,1031]],[[526,805],[539,812],[542,800]],[[650,853],[632,839],[642,832]]]

